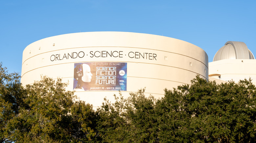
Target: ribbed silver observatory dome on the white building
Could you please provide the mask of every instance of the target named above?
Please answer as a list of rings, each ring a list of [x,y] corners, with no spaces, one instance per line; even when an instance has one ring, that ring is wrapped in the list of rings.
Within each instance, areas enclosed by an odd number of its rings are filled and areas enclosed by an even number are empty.
[[[215,54],[213,61],[223,59],[254,59],[254,56],[244,42],[227,41]]]

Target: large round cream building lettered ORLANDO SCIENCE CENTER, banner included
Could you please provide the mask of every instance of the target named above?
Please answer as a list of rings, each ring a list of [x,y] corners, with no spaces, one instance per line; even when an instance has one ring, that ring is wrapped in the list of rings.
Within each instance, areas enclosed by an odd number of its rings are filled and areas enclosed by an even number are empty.
[[[21,83],[41,75],[69,82],[68,90],[98,107],[113,94],[163,97],[164,88],[190,84],[196,75],[208,80],[208,56],[186,41],[131,32],[82,32],[53,36],[23,51]]]

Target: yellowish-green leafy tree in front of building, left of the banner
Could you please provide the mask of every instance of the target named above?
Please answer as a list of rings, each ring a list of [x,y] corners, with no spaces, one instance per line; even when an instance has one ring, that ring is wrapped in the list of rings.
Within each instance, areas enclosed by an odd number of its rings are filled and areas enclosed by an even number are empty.
[[[41,81],[26,86],[26,108],[20,109],[13,124],[16,141],[25,142],[28,138],[71,139],[67,121],[70,120],[68,113],[74,93],[65,91],[66,85],[61,79],[54,81],[43,77]]]

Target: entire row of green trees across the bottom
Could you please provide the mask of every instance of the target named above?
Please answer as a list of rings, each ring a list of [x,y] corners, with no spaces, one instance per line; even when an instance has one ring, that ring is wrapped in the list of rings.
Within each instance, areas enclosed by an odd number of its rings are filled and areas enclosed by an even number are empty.
[[[165,89],[156,100],[144,90],[107,99],[96,111],[42,77],[22,87],[0,64],[1,142],[255,142],[256,88],[251,80],[217,85],[197,76]]]

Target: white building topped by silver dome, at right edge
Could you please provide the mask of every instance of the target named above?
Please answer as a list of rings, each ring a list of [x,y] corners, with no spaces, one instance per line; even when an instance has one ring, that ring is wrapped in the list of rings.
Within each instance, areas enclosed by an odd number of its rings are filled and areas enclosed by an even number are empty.
[[[209,80],[217,83],[252,79],[256,85],[256,60],[244,42],[227,41],[209,63]]]

